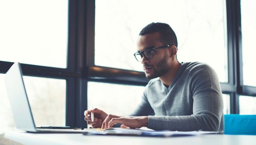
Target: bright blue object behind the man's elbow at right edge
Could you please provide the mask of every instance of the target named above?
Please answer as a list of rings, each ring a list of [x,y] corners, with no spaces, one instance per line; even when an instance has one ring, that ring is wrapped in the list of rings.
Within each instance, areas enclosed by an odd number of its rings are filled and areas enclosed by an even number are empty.
[[[224,134],[256,135],[256,115],[224,115]]]

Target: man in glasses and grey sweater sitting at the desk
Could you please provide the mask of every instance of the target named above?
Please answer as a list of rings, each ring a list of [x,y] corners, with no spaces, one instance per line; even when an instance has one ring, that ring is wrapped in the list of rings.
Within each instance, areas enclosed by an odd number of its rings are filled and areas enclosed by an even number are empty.
[[[108,115],[97,108],[86,110],[87,124],[93,128],[121,124],[123,128],[222,132],[223,99],[215,71],[207,64],[177,61],[177,38],[165,23],[145,26],[137,46],[134,56],[151,79],[141,103],[129,116]],[[90,113],[94,113],[93,122]]]

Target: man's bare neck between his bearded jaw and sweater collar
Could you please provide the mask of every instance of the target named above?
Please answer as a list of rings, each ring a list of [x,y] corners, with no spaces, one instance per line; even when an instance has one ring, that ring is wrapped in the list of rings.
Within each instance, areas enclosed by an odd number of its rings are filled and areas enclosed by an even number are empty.
[[[179,61],[174,61],[169,71],[166,74],[159,77],[166,87],[169,87],[172,84],[172,81],[175,78],[175,75],[179,70],[180,66],[181,63]]]

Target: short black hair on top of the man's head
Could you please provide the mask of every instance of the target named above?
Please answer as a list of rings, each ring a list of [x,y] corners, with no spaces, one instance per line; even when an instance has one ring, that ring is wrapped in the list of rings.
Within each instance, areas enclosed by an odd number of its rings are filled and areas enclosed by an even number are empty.
[[[159,32],[160,41],[164,45],[175,45],[178,47],[177,37],[172,28],[166,23],[150,23],[140,31],[140,36]]]

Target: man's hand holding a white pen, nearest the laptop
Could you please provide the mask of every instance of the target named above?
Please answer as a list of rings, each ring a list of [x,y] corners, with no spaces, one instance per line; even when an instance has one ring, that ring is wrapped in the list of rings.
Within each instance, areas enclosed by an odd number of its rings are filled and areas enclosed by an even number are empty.
[[[90,113],[94,113],[94,121],[93,122],[92,122]],[[101,128],[102,121],[104,121],[106,119],[108,114],[102,110],[95,108],[93,110],[85,110],[84,116],[85,116],[84,120],[87,121],[87,125],[91,125],[92,128]]]

